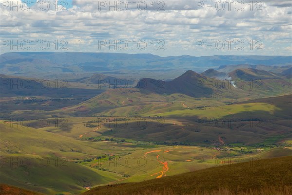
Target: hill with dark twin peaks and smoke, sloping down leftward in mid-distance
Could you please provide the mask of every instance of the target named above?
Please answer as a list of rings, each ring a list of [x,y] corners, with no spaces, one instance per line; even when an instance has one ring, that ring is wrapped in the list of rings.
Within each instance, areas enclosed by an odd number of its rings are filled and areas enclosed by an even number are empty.
[[[241,74],[242,73],[242,74]],[[136,88],[110,89],[75,106],[51,111],[61,116],[133,116],[178,112],[187,109],[221,106],[248,99],[291,94],[292,84],[274,73],[255,69],[238,69],[231,80],[217,80],[187,71],[172,81],[144,78]],[[250,78],[253,78],[250,80]],[[262,80],[256,80],[260,79]],[[237,109],[237,108],[235,108]],[[258,109],[267,110],[262,104]],[[238,110],[238,109],[237,109]],[[239,108],[239,110],[242,110]],[[245,109],[246,110],[246,109]],[[252,108],[247,109],[252,110]],[[192,112],[192,111],[191,111]]]

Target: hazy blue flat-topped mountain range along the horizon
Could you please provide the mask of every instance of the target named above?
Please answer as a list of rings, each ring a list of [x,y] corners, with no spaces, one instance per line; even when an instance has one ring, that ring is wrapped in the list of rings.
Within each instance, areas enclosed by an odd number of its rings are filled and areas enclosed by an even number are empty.
[[[190,70],[236,64],[287,66],[292,56],[169,56],[121,53],[11,52],[0,55],[2,74],[36,76],[39,74],[76,74],[125,70]],[[243,68],[243,67],[242,67]],[[245,67],[255,68],[255,67]],[[257,68],[258,69],[258,68]],[[230,71],[228,71],[230,72]]]

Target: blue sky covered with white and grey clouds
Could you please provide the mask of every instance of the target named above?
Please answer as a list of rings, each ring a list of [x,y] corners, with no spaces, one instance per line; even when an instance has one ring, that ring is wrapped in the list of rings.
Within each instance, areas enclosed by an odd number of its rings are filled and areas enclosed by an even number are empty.
[[[0,53],[292,55],[290,0],[0,0]]]

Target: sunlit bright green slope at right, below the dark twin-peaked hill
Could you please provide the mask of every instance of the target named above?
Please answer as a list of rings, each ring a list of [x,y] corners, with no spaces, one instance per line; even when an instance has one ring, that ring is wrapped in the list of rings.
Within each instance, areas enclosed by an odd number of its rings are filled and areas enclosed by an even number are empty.
[[[154,116],[197,116],[208,118],[237,117],[240,118],[262,118],[262,119],[289,119],[292,111],[287,105],[291,105],[292,95],[277,96],[271,98],[261,98],[237,102],[230,105],[210,106],[206,108],[184,108],[181,110],[155,113],[147,112],[144,115]]]

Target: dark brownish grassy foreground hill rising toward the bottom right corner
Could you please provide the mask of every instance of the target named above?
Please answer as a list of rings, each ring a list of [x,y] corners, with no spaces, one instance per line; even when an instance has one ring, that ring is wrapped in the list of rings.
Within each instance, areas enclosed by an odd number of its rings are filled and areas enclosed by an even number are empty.
[[[93,188],[82,195],[291,195],[292,156]]]

